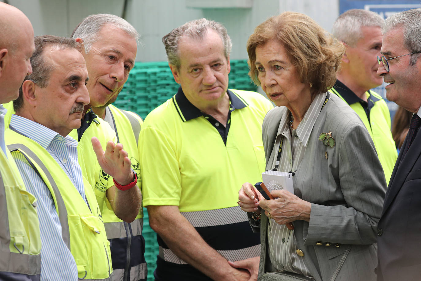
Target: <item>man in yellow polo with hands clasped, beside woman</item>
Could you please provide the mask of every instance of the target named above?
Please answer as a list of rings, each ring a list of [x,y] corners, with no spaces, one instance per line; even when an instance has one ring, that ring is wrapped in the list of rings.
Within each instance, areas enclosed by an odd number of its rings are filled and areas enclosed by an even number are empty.
[[[227,89],[232,44],[222,24],[190,21],[163,42],[181,87],[139,138],[143,204],[160,246],[155,280],[248,280],[260,238],[237,206],[238,189],[261,181],[261,124],[273,106]]]

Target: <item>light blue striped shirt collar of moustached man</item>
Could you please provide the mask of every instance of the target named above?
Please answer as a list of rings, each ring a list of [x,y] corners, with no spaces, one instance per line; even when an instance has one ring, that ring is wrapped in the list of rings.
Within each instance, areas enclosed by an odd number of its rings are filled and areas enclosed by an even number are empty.
[[[32,120],[18,115],[12,115],[10,121],[10,128],[14,131],[18,131],[20,134],[24,134],[25,136],[29,137],[45,149],[47,149],[47,147],[51,144],[53,140],[66,140],[66,142],[72,145],[77,145],[77,143],[71,136],[61,136],[56,131],[47,128],[41,125],[40,123],[34,122]]]

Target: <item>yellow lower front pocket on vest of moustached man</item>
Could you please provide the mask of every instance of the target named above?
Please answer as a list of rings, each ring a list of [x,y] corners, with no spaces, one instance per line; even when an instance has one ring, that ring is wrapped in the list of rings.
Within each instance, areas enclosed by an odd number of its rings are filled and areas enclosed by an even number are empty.
[[[67,217],[70,231],[70,252],[76,261],[78,277],[108,278],[111,271],[111,257],[107,248],[104,251],[107,238],[103,223],[93,214],[68,215]]]

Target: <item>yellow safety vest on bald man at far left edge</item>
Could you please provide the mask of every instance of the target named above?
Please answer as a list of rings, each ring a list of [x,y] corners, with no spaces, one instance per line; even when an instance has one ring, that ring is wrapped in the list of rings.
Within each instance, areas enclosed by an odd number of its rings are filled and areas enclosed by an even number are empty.
[[[6,154],[7,158],[0,149],[0,272],[39,278],[41,238],[37,199],[27,192],[10,152]]]

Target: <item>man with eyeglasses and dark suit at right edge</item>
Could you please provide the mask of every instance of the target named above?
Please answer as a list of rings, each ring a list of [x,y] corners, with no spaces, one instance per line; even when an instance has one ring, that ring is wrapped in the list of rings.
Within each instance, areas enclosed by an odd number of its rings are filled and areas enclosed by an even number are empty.
[[[382,26],[377,74],[386,98],[413,112],[378,222],[378,281],[419,280],[421,275],[421,9],[390,16]],[[380,61],[382,63],[380,63]]]

